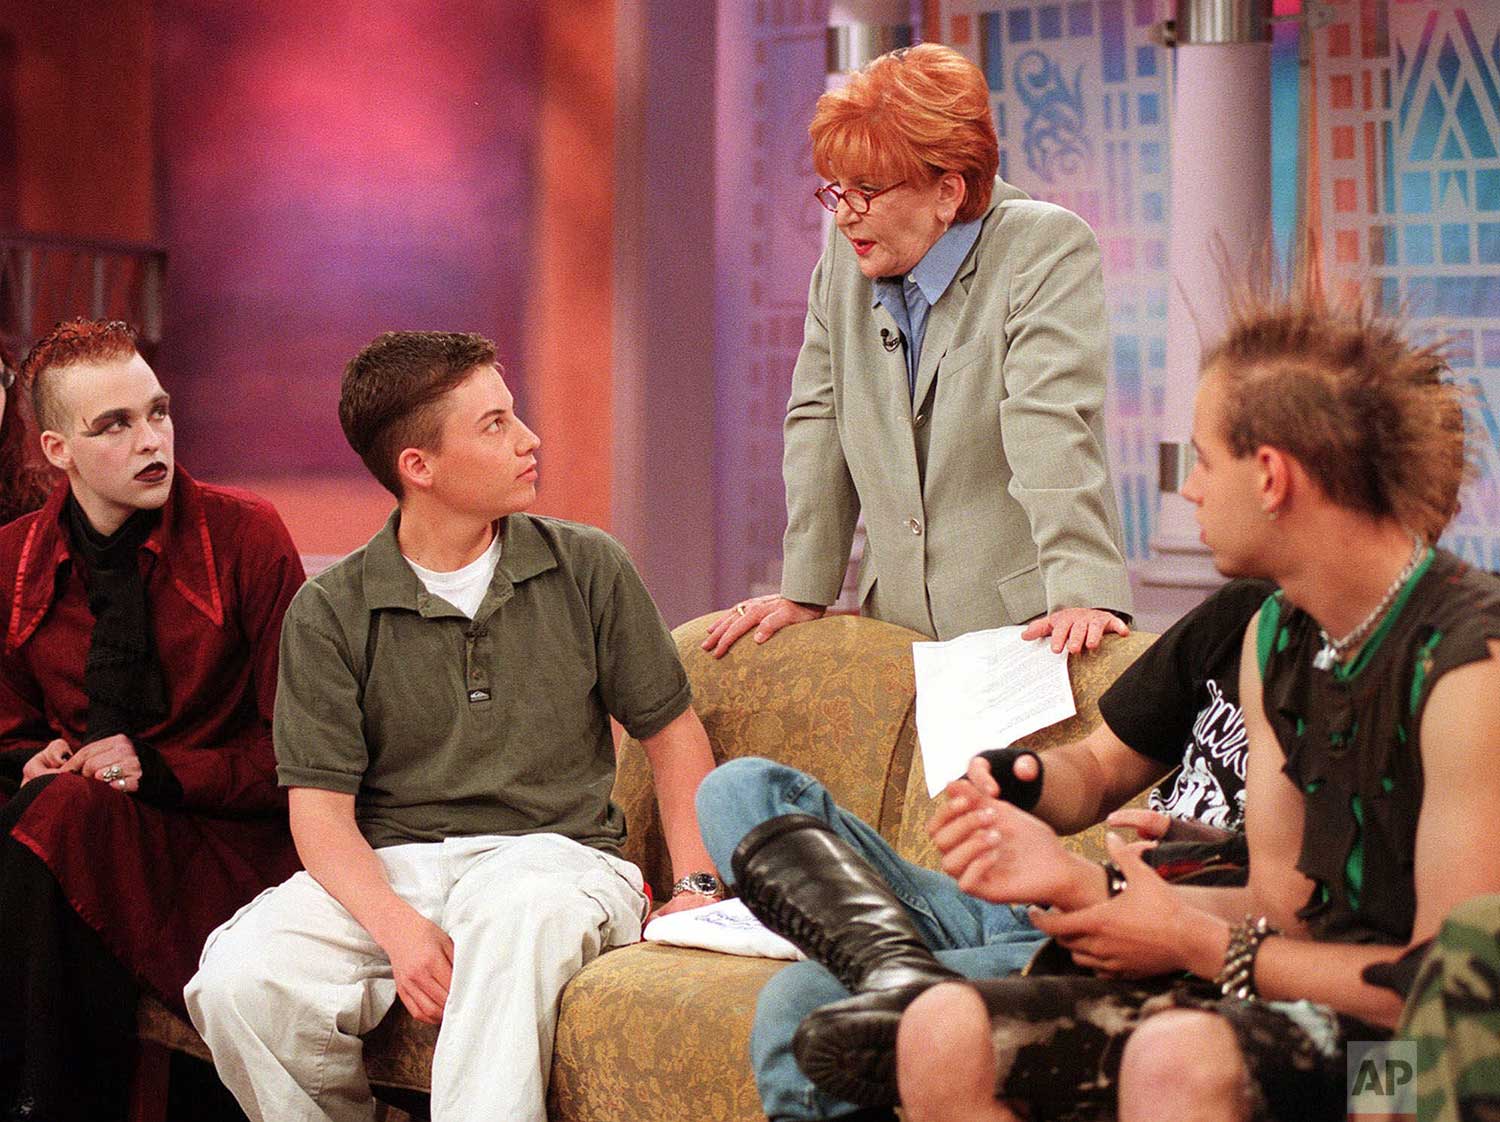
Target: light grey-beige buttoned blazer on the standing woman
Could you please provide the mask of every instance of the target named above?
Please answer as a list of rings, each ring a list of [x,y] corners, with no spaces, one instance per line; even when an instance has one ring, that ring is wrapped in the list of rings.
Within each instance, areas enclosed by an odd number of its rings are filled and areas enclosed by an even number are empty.
[[[838,597],[855,519],[866,615],[951,639],[1058,608],[1131,610],[1104,444],[1094,232],[1002,180],[933,304],[908,398],[897,333],[834,230],[786,406],[782,596]]]

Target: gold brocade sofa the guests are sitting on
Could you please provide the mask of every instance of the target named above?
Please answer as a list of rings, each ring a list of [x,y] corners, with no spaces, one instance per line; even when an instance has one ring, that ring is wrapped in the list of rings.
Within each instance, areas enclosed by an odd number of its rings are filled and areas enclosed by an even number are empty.
[[[717,615],[717,614],[714,614]],[[714,615],[674,632],[693,704],[718,760],[765,756],[822,780],[842,806],[879,828],[903,856],[936,867],[914,716],[912,642],[921,636],[856,616],[788,628],[764,645],[738,644],[723,660],[699,644]],[[1134,633],[1070,660],[1078,714],[1035,734],[1038,750],[1098,722],[1100,693],[1150,644]],[[626,856],[657,900],[672,868],[640,746],[620,752],[615,801],[626,812]],[[1070,842],[1101,854],[1100,828]],[[555,1122],[762,1122],[748,1040],[756,996],[784,962],[660,944],[610,951],[562,993],[548,1101]],[[202,1041],[156,1002],[141,1006],[147,1041],[206,1056]],[[366,1038],[370,1080],[424,1090],[436,1029],[398,1004]]]

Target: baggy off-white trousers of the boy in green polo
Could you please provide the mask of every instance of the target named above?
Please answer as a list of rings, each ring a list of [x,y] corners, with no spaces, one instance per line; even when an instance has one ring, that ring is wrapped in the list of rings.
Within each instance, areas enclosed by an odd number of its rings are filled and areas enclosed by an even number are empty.
[[[556,834],[376,850],[392,888],[453,939],[434,1122],[544,1122],[558,996],[640,938],[640,872]],[[390,960],[308,873],[208,936],[188,1010],[255,1122],[369,1122],[360,1035],[396,1000]]]

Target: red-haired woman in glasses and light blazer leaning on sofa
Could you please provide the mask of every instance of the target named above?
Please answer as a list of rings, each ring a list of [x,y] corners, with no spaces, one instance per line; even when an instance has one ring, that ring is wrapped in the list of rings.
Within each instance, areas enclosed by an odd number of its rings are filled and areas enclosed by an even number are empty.
[[[866,615],[938,639],[1030,621],[1070,651],[1125,633],[1092,231],[996,177],[988,86],[948,46],[876,58],[810,132],[836,219],[786,412],[782,591],[705,650],[824,615],[861,513]]]

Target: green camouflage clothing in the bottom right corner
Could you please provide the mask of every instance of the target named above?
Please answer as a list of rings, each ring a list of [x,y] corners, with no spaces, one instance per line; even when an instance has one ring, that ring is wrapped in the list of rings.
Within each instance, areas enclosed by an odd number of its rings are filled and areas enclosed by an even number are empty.
[[[1418,1046],[1419,1122],[1500,1119],[1500,896],[1448,916],[1396,1030]]]

